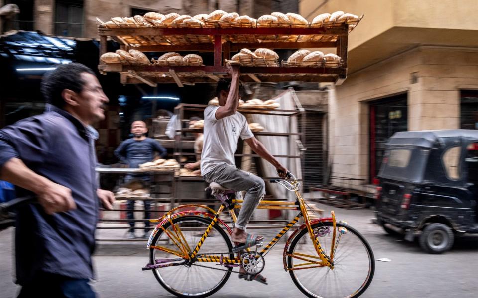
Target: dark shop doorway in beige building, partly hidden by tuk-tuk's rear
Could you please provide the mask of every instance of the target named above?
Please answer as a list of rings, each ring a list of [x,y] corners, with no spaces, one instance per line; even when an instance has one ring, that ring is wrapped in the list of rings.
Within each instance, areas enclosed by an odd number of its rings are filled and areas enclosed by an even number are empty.
[[[370,181],[378,175],[388,138],[408,130],[407,115],[406,93],[370,103]]]

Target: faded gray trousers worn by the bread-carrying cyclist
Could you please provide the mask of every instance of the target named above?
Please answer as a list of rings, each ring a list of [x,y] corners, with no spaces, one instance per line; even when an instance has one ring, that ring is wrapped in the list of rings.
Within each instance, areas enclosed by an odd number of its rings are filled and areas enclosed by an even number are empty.
[[[244,203],[242,203],[239,211],[238,221],[235,224],[235,227],[245,230],[252,213],[259,205],[259,201],[264,197],[264,180],[249,172],[226,164],[219,165],[213,171],[204,175],[204,180],[208,183],[216,182],[223,187],[235,191],[247,191]]]

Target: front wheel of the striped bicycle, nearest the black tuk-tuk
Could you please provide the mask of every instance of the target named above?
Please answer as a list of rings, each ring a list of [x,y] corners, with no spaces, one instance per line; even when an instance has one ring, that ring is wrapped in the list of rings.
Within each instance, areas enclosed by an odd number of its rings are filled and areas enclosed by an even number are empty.
[[[332,222],[312,225],[325,254],[330,256],[332,244]],[[336,229],[344,227],[334,252],[334,268],[317,267],[310,262],[318,261],[317,252],[307,228],[300,231],[288,250],[287,267],[295,285],[312,298],[355,298],[370,285],[375,272],[375,259],[365,238],[354,228],[337,223]],[[340,233],[337,231],[337,237]],[[296,256],[296,257],[294,257]],[[300,257],[306,258],[299,259]]]

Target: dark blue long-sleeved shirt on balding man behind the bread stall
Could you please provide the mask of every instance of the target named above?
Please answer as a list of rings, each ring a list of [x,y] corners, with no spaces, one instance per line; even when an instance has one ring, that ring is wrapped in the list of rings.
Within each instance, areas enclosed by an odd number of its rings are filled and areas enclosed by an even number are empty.
[[[154,159],[154,152],[158,152],[161,158],[166,157],[168,153],[158,141],[150,138],[136,141],[131,138],[119,144],[115,150],[115,156],[122,162],[128,163],[130,168],[137,168],[141,163],[151,162]]]

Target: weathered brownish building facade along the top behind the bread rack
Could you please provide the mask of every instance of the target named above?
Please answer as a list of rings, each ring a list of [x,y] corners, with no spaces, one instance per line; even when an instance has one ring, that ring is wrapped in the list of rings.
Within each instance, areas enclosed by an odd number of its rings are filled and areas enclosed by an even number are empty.
[[[297,0],[0,0],[1,5],[10,3],[19,6],[20,14],[8,29],[84,38],[97,37],[96,18],[107,21],[114,16],[142,15],[149,11],[195,15],[215,9],[260,16],[276,10],[297,12],[298,9]]]

